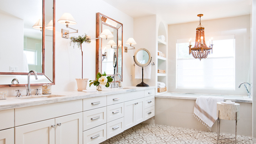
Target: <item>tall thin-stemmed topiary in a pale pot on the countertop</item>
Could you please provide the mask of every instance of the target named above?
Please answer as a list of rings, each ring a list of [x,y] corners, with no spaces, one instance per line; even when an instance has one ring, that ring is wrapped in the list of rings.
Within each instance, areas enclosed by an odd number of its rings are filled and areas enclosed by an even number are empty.
[[[78,37],[70,37],[70,46],[73,43],[73,48],[75,48],[75,44],[76,46],[78,46],[79,49],[81,49],[81,53],[82,53],[82,79],[76,79],[76,83],[78,85],[78,91],[82,91],[82,90],[86,90],[87,87],[87,81],[88,79],[83,79],[83,51],[82,51],[82,43],[90,43],[90,39],[89,37],[87,37],[86,34],[82,35],[82,36],[78,36]]]

